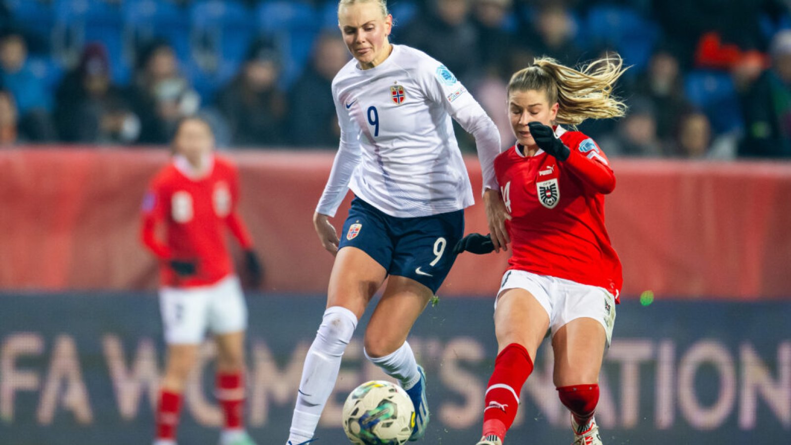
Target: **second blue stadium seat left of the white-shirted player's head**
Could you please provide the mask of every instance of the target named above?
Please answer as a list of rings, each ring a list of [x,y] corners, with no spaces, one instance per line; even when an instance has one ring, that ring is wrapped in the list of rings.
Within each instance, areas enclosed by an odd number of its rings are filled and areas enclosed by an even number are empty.
[[[207,98],[239,69],[252,41],[252,20],[241,3],[228,0],[200,0],[189,16],[187,70],[195,89]]]

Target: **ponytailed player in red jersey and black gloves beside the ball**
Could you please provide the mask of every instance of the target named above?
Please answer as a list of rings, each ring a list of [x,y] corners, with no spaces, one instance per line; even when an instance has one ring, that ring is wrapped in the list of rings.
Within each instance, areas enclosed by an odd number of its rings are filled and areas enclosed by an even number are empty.
[[[604,227],[604,195],[615,188],[615,176],[592,139],[560,124],[573,128],[589,118],[623,116],[626,106],[611,96],[623,71],[618,57],[581,70],[536,59],[509,82],[517,143],[498,155],[494,169],[512,217],[507,226],[513,253],[495,303],[498,356],[478,445],[500,445],[505,438],[547,329],[554,384],[571,411],[573,443],[601,443],[593,413],[622,283]],[[457,252],[492,249],[479,234],[456,246]]]

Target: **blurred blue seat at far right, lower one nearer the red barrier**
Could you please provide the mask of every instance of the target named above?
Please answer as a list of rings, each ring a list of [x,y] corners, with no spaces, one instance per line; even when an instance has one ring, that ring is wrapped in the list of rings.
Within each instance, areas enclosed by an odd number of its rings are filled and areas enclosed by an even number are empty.
[[[728,73],[693,70],[684,78],[684,93],[709,116],[718,134],[744,127],[739,97]]]

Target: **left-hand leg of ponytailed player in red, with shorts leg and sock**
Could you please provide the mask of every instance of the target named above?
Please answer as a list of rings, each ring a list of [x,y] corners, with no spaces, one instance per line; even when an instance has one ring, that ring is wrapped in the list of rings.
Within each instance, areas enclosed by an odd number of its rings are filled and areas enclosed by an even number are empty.
[[[549,328],[546,293],[517,271],[506,276],[494,310],[498,356],[484,397],[481,445],[500,445],[519,409],[519,397]],[[530,291],[528,291],[530,289]]]

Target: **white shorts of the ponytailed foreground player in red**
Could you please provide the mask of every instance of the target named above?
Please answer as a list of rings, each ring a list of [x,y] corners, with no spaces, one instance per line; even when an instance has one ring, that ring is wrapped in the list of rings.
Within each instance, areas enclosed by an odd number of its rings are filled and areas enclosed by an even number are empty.
[[[502,277],[497,298],[509,289],[524,289],[541,303],[549,315],[551,335],[577,318],[593,318],[604,326],[607,346],[612,340],[615,324],[615,297],[604,287],[589,286],[554,276],[509,270]],[[497,308],[497,300],[494,301]]]

